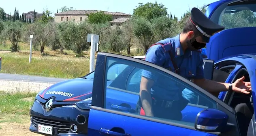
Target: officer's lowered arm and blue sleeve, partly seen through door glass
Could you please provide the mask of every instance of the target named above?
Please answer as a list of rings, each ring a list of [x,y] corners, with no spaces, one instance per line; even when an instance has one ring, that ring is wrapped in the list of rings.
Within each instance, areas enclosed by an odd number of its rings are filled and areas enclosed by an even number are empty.
[[[162,66],[164,64],[164,59],[164,54],[159,50],[159,48],[150,48],[147,52],[145,61]],[[150,69],[150,71],[143,70],[141,76],[140,98],[145,115],[147,116],[154,116],[151,107],[151,88],[154,85],[154,80],[157,79],[157,75],[157,73],[154,73],[154,69]]]

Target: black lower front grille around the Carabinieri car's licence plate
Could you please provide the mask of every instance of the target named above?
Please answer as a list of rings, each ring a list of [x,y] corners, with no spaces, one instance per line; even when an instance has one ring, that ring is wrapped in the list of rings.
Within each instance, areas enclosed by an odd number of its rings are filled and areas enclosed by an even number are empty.
[[[57,130],[58,134],[68,133],[70,129],[70,123],[63,121],[56,121],[51,119],[43,119],[39,117],[32,117],[32,124],[37,128],[37,125],[42,124],[46,126],[52,126],[54,131]],[[55,133],[55,132],[54,132]]]

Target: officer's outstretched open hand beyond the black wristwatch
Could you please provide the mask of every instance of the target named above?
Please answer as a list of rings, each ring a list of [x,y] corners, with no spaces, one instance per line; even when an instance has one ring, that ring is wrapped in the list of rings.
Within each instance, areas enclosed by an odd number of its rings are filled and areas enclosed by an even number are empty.
[[[243,82],[244,79],[245,77],[243,76],[237,79],[237,81],[232,84],[233,91],[250,94],[250,92],[252,91],[251,82]]]

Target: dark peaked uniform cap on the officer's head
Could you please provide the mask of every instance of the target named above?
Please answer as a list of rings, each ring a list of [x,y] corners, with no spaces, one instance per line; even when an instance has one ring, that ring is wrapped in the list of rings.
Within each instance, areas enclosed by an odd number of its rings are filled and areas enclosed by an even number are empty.
[[[207,43],[211,36],[225,29],[225,27],[211,21],[198,8],[192,8],[190,21],[203,34],[203,40]]]

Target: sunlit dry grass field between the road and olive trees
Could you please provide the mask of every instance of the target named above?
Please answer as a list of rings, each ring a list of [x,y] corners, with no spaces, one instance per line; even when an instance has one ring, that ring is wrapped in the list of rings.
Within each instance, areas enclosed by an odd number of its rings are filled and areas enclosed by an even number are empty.
[[[84,51],[83,56],[77,57],[71,50],[64,50],[61,54],[46,47],[44,54],[33,50],[29,63],[29,44],[19,43],[19,52],[11,52],[10,47],[10,42],[6,42],[6,46],[0,44],[2,73],[59,78],[76,78],[89,73],[90,52]]]

